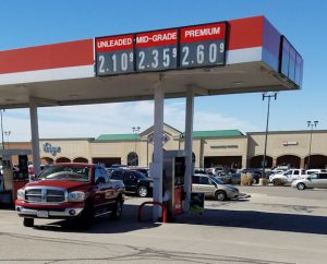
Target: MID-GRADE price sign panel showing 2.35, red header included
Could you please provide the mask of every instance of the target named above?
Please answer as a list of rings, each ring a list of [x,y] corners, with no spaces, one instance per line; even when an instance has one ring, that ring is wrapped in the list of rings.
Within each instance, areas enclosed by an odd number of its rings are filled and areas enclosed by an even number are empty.
[[[136,34],[136,71],[177,69],[178,29]]]

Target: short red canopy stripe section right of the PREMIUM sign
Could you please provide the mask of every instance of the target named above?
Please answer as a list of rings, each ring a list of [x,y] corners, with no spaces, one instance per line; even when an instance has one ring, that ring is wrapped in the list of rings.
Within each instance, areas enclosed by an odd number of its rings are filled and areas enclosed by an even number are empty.
[[[229,25],[229,50],[263,46],[264,16],[231,20]]]

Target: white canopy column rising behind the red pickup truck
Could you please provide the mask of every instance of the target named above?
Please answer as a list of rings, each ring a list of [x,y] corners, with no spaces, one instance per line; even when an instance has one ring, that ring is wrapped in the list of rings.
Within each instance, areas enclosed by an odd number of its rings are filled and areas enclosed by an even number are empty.
[[[40,171],[40,158],[39,158],[37,104],[33,99],[29,99],[29,119],[31,119],[31,133],[32,133],[33,166],[34,166],[35,175],[38,175]]]

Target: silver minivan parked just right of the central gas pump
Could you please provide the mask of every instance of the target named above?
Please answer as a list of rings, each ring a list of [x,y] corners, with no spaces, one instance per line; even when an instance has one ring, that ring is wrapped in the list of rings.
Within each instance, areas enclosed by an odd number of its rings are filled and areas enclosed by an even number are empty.
[[[214,197],[218,201],[235,199],[240,195],[238,188],[225,184],[210,175],[194,175],[192,177],[192,192],[203,192],[206,197]]]

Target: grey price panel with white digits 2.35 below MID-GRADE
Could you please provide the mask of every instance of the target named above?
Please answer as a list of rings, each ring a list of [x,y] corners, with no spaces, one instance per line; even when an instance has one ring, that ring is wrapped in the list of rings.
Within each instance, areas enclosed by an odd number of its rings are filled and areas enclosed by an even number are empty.
[[[140,49],[136,56],[137,71],[158,71],[177,68],[177,48],[159,47]]]

